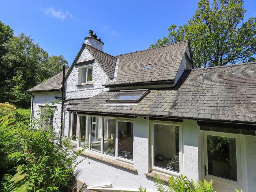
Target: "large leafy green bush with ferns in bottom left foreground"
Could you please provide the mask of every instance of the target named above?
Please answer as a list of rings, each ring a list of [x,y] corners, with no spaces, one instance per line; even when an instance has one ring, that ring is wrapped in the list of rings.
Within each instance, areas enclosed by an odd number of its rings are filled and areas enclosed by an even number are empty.
[[[0,151],[5,153],[0,166],[11,168],[2,177],[0,191],[50,192],[71,191],[74,188],[75,177],[79,174],[74,168],[80,163],[76,162],[76,158],[84,148],[74,154],[69,145],[70,140],[60,140],[59,129],[46,126],[45,122],[51,113],[50,106],[46,105],[41,110],[44,110],[45,115],[35,119],[28,127],[10,125],[15,121],[14,118],[4,117],[0,120],[2,132],[8,132],[5,140],[0,135],[0,145],[3,148],[9,146]],[[11,143],[17,143],[18,146],[11,147]]]

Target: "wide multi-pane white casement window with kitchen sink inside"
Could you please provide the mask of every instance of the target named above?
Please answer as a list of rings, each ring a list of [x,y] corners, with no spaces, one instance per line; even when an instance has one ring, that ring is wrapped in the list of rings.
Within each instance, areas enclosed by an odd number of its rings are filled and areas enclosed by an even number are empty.
[[[106,157],[132,162],[132,120],[79,115],[79,147],[89,144],[87,150]]]

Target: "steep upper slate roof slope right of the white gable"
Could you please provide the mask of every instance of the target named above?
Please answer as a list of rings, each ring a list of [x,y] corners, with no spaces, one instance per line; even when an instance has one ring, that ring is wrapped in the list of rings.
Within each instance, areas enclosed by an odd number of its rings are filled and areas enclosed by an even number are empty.
[[[181,41],[116,56],[119,59],[116,81],[106,84],[174,80],[188,44],[189,41]],[[151,68],[143,69],[147,65]]]

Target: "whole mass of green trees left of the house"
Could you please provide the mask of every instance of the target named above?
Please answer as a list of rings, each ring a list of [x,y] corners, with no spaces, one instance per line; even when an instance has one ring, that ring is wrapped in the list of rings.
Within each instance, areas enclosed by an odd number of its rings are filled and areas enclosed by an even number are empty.
[[[68,62],[62,55],[50,56],[24,33],[13,35],[9,26],[0,22],[0,102],[19,107],[30,106],[31,87],[58,74]]]

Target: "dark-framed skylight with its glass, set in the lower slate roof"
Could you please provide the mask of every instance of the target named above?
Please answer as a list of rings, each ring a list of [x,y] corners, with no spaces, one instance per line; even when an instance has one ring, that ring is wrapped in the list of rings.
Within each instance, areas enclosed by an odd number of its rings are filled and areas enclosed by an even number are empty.
[[[149,89],[122,90],[106,100],[112,103],[136,103],[142,100],[149,93]]]

